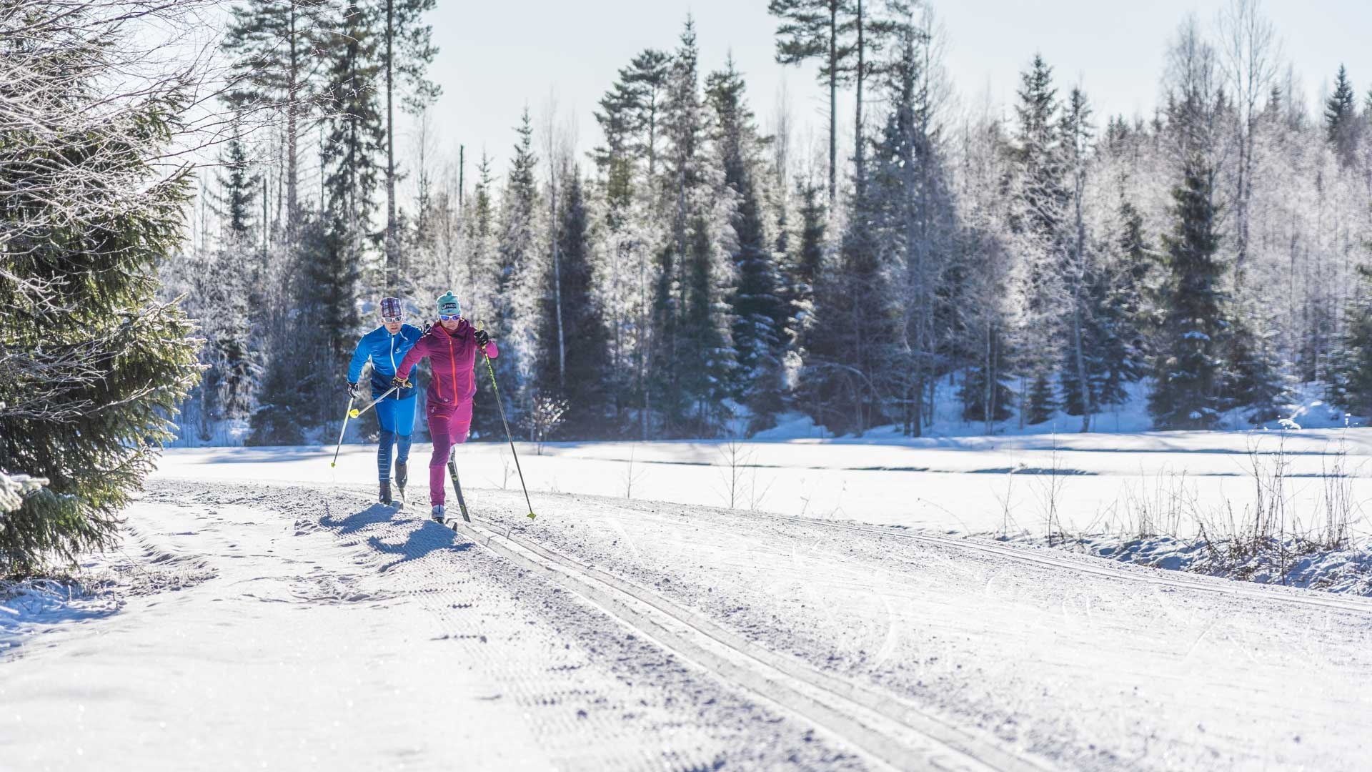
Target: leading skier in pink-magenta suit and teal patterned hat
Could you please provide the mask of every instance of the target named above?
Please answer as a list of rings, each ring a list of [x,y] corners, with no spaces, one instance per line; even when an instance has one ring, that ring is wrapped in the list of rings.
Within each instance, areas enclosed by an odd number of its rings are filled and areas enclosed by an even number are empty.
[[[476,394],[477,349],[490,357],[498,357],[495,341],[483,330],[476,330],[462,317],[462,306],[453,293],[438,298],[438,324],[420,338],[401,365],[395,368],[397,383],[407,383],[410,371],[424,357],[429,360],[434,378],[428,385],[428,423],[434,438],[434,455],[429,457],[429,501],[434,504],[434,519],[443,522],[443,466],[454,463],[454,445],[466,442],[472,429],[472,397]],[[457,484],[456,468],[453,482]],[[457,490],[461,501],[462,492]]]

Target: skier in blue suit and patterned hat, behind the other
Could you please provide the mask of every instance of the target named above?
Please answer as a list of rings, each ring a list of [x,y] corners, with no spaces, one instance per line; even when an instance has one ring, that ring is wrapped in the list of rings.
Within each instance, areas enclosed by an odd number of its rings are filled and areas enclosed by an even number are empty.
[[[405,309],[399,298],[381,298],[381,326],[357,342],[353,364],[347,368],[347,385],[353,400],[366,404],[391,389],[391,379],[405,354],[424,334],[413,324],[405,324]],[[358,385],[362,365],[372,363],[370,389]],[[368,396],[370,394],[370,396]],[[410,433],[414,431],[414,387],[398,389],[376,404],[376,420],[381,424],[380,446],[376,449],[376,473],[381,481],[379,500],[391,503],[391,445],[395,453],[395,485],[405,496],[409,478]]]

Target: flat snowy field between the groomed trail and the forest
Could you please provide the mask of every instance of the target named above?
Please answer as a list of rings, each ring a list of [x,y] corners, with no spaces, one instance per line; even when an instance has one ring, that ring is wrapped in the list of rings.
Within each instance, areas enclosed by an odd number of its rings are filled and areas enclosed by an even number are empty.
[[[1257,451],[1257,456],[1251,452]],[[1277,452],[1281,451],[1280,459]],[[1342,459],[1340,459],[1342,451]],[[458,449],[462,479],[517,489],[504,442]],[[200,448],[169,451],[165,478],[332,485],[376,478],[375,446]],[[1069,533],[1126,527],[1144,503],[1165,507],[1190,534],[1190,515],[1255,499],[1254,462],[1284,467],[1290,529],[1313,529],[1324,477],[1340,464],[1351,488],[1358,540],[1372,536],[1372,429],[1249,433],[1033,434],[929,440],[788,440],[761,442],[549,442],[519,445],[531,490],[767,511],[963,534],[1041,533],[1050,507]],[[428,463],[418,444],[412,464]],[[424,495],[420,496],[427,503]],[[1192,506],[1194,503],[1194,506]],[[1170,525],[1170,523],[1169,523]]]

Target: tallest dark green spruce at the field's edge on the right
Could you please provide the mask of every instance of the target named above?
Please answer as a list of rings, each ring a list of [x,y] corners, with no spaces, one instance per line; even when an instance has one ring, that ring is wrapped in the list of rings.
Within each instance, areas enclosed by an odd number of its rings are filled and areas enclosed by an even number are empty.
[[[1148,411],[1158,429],[1214,429],[1220,423],[1220,316],[1224,266],[1216,258],[1213,173],[1198,155],[1187,159],[1172,198],[1176,225],[1163,236],[1172,269],[1170,302],[1158,350],[1157,386]]]

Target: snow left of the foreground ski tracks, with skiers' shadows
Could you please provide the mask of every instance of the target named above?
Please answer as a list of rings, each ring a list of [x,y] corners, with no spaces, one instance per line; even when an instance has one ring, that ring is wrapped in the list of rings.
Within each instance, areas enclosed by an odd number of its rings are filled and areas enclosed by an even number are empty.
[[[862,768],[427,512],[170,482],[128,514],[111,576],[193,581],[0,621],[3,769]]]

